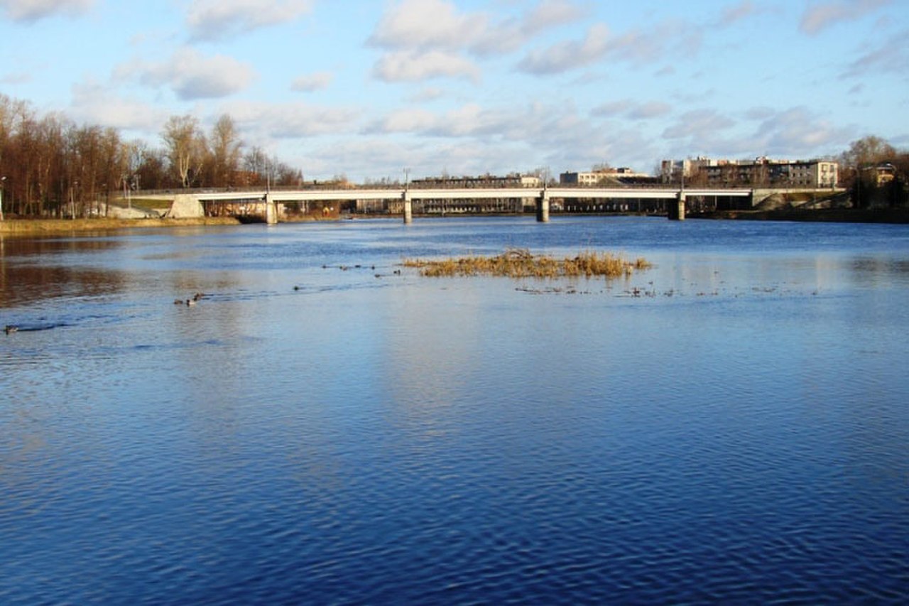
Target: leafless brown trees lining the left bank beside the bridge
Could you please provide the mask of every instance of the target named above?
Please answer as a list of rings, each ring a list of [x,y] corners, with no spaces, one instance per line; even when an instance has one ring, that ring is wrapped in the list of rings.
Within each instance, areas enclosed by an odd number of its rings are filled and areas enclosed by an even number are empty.
[[[0,187],[7,216],[86,217],[100,201],[137,189],[298,186],[303,173],[247,147],[227,115],[206,133],[194,116],[171,116],[162,146],[125,140],[112,127],[39,116],[0,94]]]

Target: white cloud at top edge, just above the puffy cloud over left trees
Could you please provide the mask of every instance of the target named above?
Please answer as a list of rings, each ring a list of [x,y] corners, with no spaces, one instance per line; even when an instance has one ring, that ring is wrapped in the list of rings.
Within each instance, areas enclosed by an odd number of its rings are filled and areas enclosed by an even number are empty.
[[[216,40],[287,23],[312,8],[313,0],[195,0],[186,23],[194,39]]]

